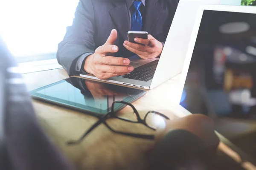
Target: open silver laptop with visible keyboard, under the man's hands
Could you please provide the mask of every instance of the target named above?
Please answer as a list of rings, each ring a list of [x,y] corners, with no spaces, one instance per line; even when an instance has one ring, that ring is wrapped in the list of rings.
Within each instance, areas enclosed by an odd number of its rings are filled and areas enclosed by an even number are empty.
[[[196,12],[201,3],[218,4],[219,0],[214,2],[213,0],[180,0],[161,57],[146,60],[138,56],[130,57],[134,71],[103,81],[153,89],[179,74],[185,61]],[[98,79],[91,74],[80,74],[80,76]]]

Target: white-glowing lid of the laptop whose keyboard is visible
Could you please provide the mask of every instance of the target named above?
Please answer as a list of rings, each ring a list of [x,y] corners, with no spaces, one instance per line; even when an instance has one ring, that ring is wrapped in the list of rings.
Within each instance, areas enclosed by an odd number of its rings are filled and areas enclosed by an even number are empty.
[[[220,0],[180,0],[151,82],[151,89],[182,71],[199,6],[219,3]]]

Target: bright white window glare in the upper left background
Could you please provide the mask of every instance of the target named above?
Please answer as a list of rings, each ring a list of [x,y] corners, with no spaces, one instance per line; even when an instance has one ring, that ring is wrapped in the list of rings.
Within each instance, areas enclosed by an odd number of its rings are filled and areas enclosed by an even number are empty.
[[[55,53],[79,0],[0,0],[0,35],[15,57]]]

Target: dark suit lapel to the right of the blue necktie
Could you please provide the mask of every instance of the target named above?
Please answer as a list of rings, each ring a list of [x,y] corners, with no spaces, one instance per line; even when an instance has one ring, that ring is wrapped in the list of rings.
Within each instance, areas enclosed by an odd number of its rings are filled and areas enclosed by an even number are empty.
[[[163,6],[158,3],[158,0],[146,0],[145,6],[145,23],[143,24],[143,30],[148,31],[148,33],[151,34],[161,14]]]

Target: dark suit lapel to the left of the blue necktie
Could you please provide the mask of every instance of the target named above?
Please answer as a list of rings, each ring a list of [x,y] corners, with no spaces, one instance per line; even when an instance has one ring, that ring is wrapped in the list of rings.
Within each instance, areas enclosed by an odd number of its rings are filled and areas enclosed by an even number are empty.
[[[127,32],[130,31],[130,21],[125,0],[111,0],[114,8],[109,11],[111,19],[119,34],[127,40]]]

